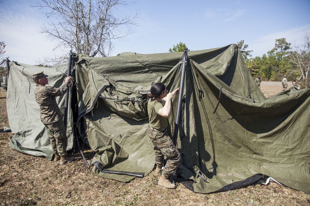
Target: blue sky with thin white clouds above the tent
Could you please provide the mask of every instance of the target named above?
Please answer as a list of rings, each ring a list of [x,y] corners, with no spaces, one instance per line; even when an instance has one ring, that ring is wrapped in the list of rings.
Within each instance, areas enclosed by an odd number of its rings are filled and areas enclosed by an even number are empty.
[[[38,32],[48,19],[29,7],[35,2],[0,0],[0,41],[7,45],[3,58],[35,65],[39,58],[61,52],[53,51],[54,43]],[[276,39],[286,38],[294,46],[303,43],[305,29],[310,32],[310,0],[137,0],[115,14],[136,10],[139,26],[131,27],[133,33],[126,40],[114,41],[112,56],[166,53],[180,41],[190,50],[203,50],[244,40],[255,57],[272,49]]]

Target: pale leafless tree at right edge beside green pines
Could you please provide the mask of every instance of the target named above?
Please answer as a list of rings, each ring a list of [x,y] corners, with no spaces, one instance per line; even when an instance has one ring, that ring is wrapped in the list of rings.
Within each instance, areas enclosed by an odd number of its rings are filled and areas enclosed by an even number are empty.
[[[293,51],[287,58],[293,67],[290,73],[296,72],[300,74],[298,80],[301,81],[304,87],[310,83],[310,33],[305,30],[304,44],[295,46]]]

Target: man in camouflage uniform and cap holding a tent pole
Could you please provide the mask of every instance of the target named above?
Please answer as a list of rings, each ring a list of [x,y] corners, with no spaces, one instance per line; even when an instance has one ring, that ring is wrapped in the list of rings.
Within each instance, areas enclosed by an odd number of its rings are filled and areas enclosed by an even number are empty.
[[[63,114],[56,103],[56,97],[68,91],[71,76],[67,77],[64,84],[59,88],[45,86],[48,84],[47,77],[43,71],[33,74],[33,81],[37,83],[34,95],[40,106],[40,119],[47,130],[55,153],[54,161],[60,161],[60,164],[64,165],[74,161],[74,157],[69,158],[66,151],[68,138]]]

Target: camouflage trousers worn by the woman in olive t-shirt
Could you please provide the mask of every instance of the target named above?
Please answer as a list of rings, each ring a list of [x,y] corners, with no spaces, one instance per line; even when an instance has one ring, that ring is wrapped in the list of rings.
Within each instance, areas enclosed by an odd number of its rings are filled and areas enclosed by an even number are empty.
[[[164,156],[168,159],[162,174],[169,177],[179,166],[181,155],[168,136],[167,129],[157,131],[152,127],[148,128],[148,136],[150,137],[155,150],[155,163],[157,166],[164,164]]]

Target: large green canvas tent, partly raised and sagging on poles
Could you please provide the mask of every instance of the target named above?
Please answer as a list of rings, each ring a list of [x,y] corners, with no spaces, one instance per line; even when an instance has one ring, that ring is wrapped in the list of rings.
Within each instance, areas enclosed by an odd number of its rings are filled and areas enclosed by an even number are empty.
[[[95,174],[127,182],[153,169],[153,145],[146,132],[146,94],[154,82],[163,82],[169,90],[179,86],[182,55],[73,57],[76,89],[72,96],[76,99],[71,107],[77,109],[71,111],[76,118],[68,119],[95,152],[90,162],[95,165]],[[65,67],[44,68],[48,75],[61,71],[52,86],[63,82]],[[11,62],[10,69],[19,77],[10,73],[7,111],[14,133],[10,146],[51,159],[48,142],[38,143],[45,135],[42,130],[36,131],[39,116],[32,124],[28,119],[36,118],[30,111],[38,112],[34,97],[31,99],[34,83],[29,75],[43,68]],[[10,88],[17,81],[22,82],[22,91],[17,85]],[[266,99],[235,44],[188,52],[177,138],[181,153],[178,180],[184,180],[184,185],[195,192],[209,193],[272,177],[309,194],[309,95],[310,89],[287,90]],[[169,117],[171,137],[177,102],[173,99]],[[28,111],[22,113],[23,120],[16,118],[18,108]],[[73,124],[68,124],[68,131]]]

